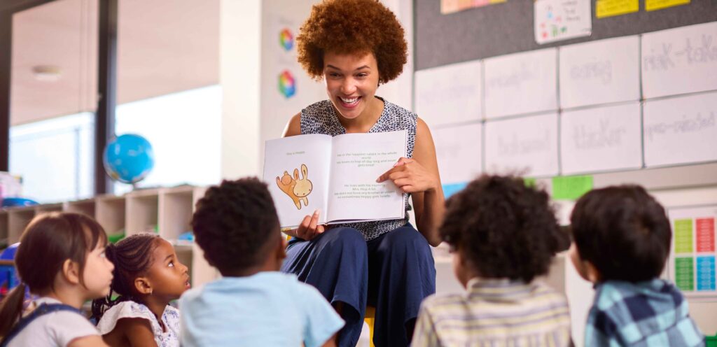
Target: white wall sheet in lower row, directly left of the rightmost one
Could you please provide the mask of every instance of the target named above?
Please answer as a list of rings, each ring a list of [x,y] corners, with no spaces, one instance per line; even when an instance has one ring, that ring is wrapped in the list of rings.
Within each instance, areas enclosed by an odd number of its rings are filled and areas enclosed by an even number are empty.
[[[642,167],[640,103],[565,111],[560,120],[563,174]]]

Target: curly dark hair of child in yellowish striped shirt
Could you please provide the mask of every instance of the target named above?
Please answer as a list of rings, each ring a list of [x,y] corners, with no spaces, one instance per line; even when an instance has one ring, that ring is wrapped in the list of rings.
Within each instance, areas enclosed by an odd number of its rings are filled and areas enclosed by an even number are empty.
[[[568,244],[548,194],[513,176],[483,175],[451,196],[440,235],[480,277],[525,282]]]

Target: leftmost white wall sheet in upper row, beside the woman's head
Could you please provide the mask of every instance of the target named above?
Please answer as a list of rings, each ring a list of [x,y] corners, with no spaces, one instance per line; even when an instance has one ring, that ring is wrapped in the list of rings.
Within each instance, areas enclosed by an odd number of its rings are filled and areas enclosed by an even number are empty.
[[[483,118],[481,62],[435,67],[416,72],[416,113],[429,125]]]

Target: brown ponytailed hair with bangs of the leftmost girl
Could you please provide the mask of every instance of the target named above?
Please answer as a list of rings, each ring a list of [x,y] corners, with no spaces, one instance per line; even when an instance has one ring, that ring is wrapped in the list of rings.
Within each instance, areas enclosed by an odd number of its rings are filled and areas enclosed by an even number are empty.
[[[32,219],[15,255],[20,284],[0,303],[0,336],[5,336],[22,313],[26,287],[43,295],[54,289],[54,279],[65,260],[80,265],[80,283],[87,253],[107,244],[105,230],[84,214],[50,212]]]

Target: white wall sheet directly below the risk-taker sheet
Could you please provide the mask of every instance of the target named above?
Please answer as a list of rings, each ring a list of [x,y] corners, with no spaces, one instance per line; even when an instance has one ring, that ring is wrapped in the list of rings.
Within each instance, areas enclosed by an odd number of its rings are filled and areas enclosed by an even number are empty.
[[[644,106],[645,166],[717,161],[717,92]]]

